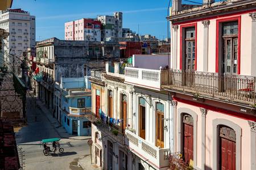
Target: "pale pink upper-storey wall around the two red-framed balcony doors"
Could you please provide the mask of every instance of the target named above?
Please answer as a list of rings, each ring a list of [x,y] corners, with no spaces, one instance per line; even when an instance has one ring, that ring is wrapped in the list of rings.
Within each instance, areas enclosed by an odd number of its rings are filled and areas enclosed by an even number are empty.
[[[241,16],[241,63],[240,63],[240,74],[241,75],[251,75],[251,27],[252,27],[252,19],[247,14],[235,14],[229,15],[225,17],[218,16],[218,18],[209,19],[209,27],[208,27],[208,56],[204,56],[204,45],[207,45],[204,40],[204,24],[203,20],[196,22],[197,24],[197,71],[203,71],[203,58],[208,57],[208,72],[216,72],[216,20],[220,19],[228,19],[236,16]],[[195,23],[195,22],[192,22]],[[185,23],[188,24],[188,23]],[[185,25],[181,24],[181,25]],[[220,30],[221,31],[221,30]],[[175,35],[174,28],[171,31],[172,35]],[[174,41],[174,37],[172,38]],[[255,40],[256,41],[256,40]],[[180,25],[177,29],[177,42],[172,42],[172,50],[174,49],[174,43],[177,45],[177,69],[180,68]],[[172,57],[175,52],[172,52]],[[219,56],[219,59],[221,56]],[[175,59],[172,58],[172,61]],[[174,66],[173,66],[174,67]],[[220,66],[219,66],[220,67]]]

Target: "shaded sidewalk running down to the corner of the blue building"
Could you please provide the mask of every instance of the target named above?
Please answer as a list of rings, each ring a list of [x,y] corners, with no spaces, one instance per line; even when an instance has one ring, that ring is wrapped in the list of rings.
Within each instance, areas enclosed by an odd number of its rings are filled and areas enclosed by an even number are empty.
[[[52,117],[52,113],[49,112],[49,110],[45,107],[42,101],[36,100],[36,105],[39,109],[42,110],[42,112],[47,117],[47,119],[49,120],[53,128],[56,130],[57,134],[59,134],[60,138],[75,139],[75,140],[86,140],[91,138],[91,137],[83,137],[83,136],[79,137],[79,136],[68,134],[67,131],[62,126],[60,126],[56,118]]]

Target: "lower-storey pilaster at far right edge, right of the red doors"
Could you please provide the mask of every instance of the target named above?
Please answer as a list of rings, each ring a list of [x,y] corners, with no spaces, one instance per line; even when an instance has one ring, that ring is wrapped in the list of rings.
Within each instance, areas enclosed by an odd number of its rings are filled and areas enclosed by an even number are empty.
[[[256,169],[256,122],[248,121],[251,128],[251,170]]]

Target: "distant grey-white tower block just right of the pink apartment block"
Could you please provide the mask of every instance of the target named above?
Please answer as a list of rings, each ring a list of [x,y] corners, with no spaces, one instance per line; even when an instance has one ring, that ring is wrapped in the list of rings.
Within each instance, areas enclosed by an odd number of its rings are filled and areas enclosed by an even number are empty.
[[[101,15],[98,20],[102,24],[101,41],[121,38],[123,33],[123,13],[114,12],[113,16]]]

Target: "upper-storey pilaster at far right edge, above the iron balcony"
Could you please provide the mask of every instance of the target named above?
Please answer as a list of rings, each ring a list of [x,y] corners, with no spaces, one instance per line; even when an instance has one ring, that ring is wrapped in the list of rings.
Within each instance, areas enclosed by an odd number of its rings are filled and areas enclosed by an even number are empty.
[[[256,12],[250,13],[251,17],[251,76],[256,76]]]

